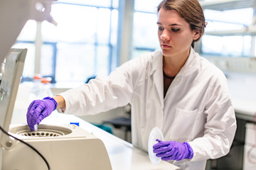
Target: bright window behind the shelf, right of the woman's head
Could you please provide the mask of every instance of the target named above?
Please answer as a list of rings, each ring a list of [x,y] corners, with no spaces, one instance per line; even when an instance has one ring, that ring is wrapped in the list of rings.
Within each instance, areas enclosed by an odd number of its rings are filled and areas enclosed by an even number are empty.
[[[232,57],[252,57],[252,35],[236,33],[252,23],[253,8],[226,11],[204,10],[206,33],[202,38],[202,53]],[[233,33],[231,35],[230,33]]]

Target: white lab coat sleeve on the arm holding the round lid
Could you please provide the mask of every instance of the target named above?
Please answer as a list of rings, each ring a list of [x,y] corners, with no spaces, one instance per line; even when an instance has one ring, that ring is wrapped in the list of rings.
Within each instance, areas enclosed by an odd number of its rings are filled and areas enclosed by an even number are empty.
[[[230,101],[228,84],[223,74],[211,79],[206,101],[206,124],[203,137],[189,142],[193,148],[193,159],[201,161],[217,159],[228,154],[232,145],[236,120],[235,111]]]

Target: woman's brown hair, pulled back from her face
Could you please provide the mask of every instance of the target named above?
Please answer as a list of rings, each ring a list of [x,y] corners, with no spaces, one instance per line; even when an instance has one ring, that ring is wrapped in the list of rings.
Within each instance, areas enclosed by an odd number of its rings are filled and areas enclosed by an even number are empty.
[[[160,9],[176,10],[179,15],[189,23],[191,30],[198,30],[200,36],[197,40],[201,39],[206,27],[206,19],[203,14],[203,8],[199,4],[198,0],[164,0],[157,7],[157,12]],[[194,47],[194,41],[191,44]]]

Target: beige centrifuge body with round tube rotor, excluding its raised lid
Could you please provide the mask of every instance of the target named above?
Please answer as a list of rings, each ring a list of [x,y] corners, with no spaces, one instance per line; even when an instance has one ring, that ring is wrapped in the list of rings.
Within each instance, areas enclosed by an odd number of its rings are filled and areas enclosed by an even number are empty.
[[[50,169],[112,169],[102,140],[77,125],[11,125],[9,132],[35,147],[46,158]],[[3,170],[48,169],[46,162],[30,147],[17,140],[4,141]]]

